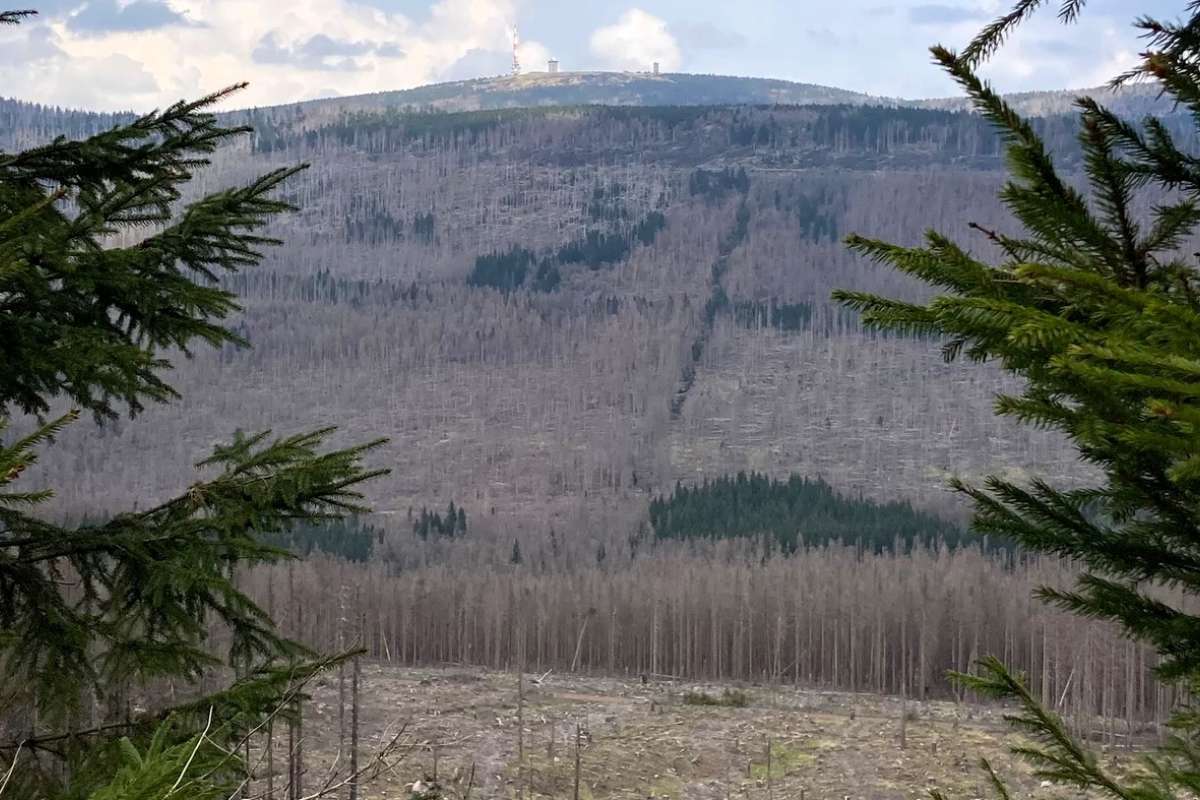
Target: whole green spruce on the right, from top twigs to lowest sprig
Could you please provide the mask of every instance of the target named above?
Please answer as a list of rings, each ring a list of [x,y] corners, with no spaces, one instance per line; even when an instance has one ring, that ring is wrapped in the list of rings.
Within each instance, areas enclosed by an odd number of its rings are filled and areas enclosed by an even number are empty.
[[[1087,191],[1061,175],[1032,126],[976,74],[1043,5],[1022,0],[961,54],[932,50],[1004,138],[1012,179],[1001,197],[1024,230],[972,225],[988,259],[937,233],[913,248],[853,236],[854,251],[941,294],[924,305],[835,296],[869,326],[941,336],[948,360],[995,361],[1024,379],[1024,391],[998,397],[996,410],[1062,432],[1103,479],[1084,489],[958,482],[974,503],[974,528],[1074,559],[1076,585],[1044,589],[1044,599],[1120,624],[1157,649],[1163,680],[1200,688],[1200,616],[1188,610],[1200,595],[1200,272],[1184,249],[1200,223],[1200,157],[1181,151],[1157,119],[1133,124],[1085,97]],[[1064,0],[1060,17],[1070,22],[1082,6]],[[1180,23],[1138,22],[1147,52],[1117,83],[1153,79],[1200,120],[1200,2],[1186,13]],[[1148,218],[1134,210],[1139,192],[1157,203]],[[1184,601],[1164,600],[1164,587]],[[1144,777],[1122,782],[998,661],[965,680],[1018,700],[1012,721],[1039,741],[1020,752],[1049,780],[1139,800],[1200,789],[1200,715],[1181,710],[1177,736]]]

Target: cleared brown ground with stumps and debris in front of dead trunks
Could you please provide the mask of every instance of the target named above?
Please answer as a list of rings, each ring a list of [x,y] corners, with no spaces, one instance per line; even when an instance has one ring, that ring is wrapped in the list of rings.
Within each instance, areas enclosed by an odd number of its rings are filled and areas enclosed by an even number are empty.
[[[514,674],[371,664],[360,686],[361,758],[401,728],[407,750],[364,787],[364,800],[406,799],[418,778],[436,778],[450,799],[572,798],[576,724],[584,799],[882,800],[928,798],[936,788],[976,800],[995,796],[980,757],[1014,798],[1080,796],[1040,784],[1008,753],[1016,739],[997,708],[551,673],[526,676],[518,742]],[[745,706],[685,702],[689,692],[719,699],[726,690],[744,692]],[[349,679],[346,691],[348,704]],[[314,688],[306,715],[306,783],[316,788],[338,748],[336,675]],[[347,705],[347,730],[349,717]],[[1104,756],[1117,771],[1129,759],[1123,750]]]

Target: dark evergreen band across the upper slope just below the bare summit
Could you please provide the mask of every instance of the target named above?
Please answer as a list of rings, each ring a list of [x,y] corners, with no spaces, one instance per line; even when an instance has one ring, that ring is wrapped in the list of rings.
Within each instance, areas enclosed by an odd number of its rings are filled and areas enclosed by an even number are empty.
[[[704,79],[716,80],[710,76]],[[535,102],[533,98],[538,92],[490,91],[488,96],[498,103],[508,102],[508,97],[512,106],[528,106]],[[1128,104],[1129,98],[1123,103]],[[649,124],[656,131],[656,136],[648,137],[646,142],[649,146],[661,146],[665,143],[670,143],[672,148],[698,146],[703,132],[720,126],[727,132],[730,146],[769,149],[781,156],[781,161],[775,163],[791,166],[827,163],[832,156],[838,156],[840,163],[857,162],[862,167],[870,167],[881,163],[881,157],[907,155],[917,160],[913,161],[914,164],[953,162],[959,167],[991,169],[1003,154],[1003,142],[996,136],[989,120],[961,110],[862,104],[734,109],[721,106],[564,108],[558,102],[552,104],[558,108],[475,112],[388,108],[343,114],[325,124],[306,120],[294,113],[289,115],[280,109],[235,113],[232,118],[253,125],[253,149],[257,152],[330,145],[364,152],[445,146],[486,148],[496,137],[520,139],[528,126],[541,125],[554,116],[577,115],[599,127],[637,125],[641,128]],[[6,106],[0,103],[0,131],[14,127],[4,125],[5,119],[14,116],[5,113],[5,109]],[[104,125],[103,118],[107,115],[101,115],[101,119],[80,116],[74,112],[55,114],[54,124],[41,120],[38,125],[42,130],[53,132],[62,130],[62,126],[95,131],[97,126]],[[1030,125],[1064,164],[1081,164],[1079,120],[1074,114],[1038,116],[1030,120]],[[1187,114],[1166,114],[1163,125],[1177,145],[1186,149],[1195,146],[1198,136]],[[860,158],[847,161],[846,156],[852,154],[859,154]],[[559,154],[558,160],[563,163],[577,161],[568,154]],[[727,192],[728,190],[725,193]],[[692,192],[703,193],[706,192]],[[596,211],[607,215],[619,209],[600,204],[596,205]]]

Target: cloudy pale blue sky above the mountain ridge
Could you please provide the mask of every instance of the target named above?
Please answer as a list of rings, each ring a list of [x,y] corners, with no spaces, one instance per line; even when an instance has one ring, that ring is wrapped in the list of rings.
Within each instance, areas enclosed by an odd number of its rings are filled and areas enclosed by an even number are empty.
[[[509,71],[648,70],[784,78],[887,97],[958,92],[929,62],[1012,0],[22,0],[0,30],[0,96],[91,110],[160,108],[229,84],[270,106]],[[12,4],[10,4],[12,5]],[[1004,91],[1093,86],[1133,64],[1140,13],[1184,0],[1057,0],[984,71]],[[5,7],[0,0],[0,7]]]

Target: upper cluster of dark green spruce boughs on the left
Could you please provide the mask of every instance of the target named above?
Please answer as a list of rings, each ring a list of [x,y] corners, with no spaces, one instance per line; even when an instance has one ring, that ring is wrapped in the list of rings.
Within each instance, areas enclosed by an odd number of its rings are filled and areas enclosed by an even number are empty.
[[[160,377],[168,363],[158,351],[241,343],[221,325],[236,300],[215,282],[257,264],[263,247],[276,243],[258,230],[292,206],[270,193],[304,167],[210,194],[173,216],[192,170],[244,133],[204,112],[230,91],[86,142],[0,154],[0,408],[44,413],[50,398],[65,396],[100,416],[115,416],[116,404],[136,414],[146,399],[175,396]],[[136,247],[102,246],[142,225],[160,228]]]

